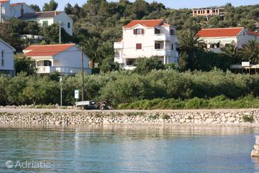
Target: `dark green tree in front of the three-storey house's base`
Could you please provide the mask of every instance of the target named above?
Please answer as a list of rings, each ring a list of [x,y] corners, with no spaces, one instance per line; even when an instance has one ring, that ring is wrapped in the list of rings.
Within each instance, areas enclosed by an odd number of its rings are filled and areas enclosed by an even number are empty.
[[[165,69],[165,65],[162,63],[162,60],[157,56],[153,56],[151,58],[138,58],[134,65],[136,65],[136,73],[139,74],[145,74],[151,70]]]

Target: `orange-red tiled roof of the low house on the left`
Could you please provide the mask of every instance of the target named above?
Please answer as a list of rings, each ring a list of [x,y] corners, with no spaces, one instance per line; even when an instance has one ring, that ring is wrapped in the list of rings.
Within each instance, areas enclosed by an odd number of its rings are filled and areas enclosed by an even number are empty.
[[[23,51],[29,51],[25,53],[26,56],[55,56],[67,49],[75,46],[75,43],[71,44],[53,44],[53,45],[37,45],[29,46]]]

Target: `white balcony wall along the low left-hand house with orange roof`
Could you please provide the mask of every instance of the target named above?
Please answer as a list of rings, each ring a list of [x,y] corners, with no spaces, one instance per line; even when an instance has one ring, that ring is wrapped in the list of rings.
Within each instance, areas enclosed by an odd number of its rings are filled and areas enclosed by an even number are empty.
[[[57,71],[58,73],[73,75],[79,73],[81,68],[69,68],[69,67],[53,67],[53,66],[38,66],[37,73],[38,74],[48,74]],[[86,73],[91,73],[91,69],[84,68]]]

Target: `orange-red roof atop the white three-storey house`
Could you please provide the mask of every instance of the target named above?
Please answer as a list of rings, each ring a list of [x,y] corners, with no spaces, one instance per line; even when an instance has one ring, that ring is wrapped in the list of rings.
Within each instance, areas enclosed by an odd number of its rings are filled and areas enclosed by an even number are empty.
[[[148,27],[148,28],[154,28],[155,26],[170,26],[169,24],[164,23],[164,21],[162,19],[158,19],[158,20],[135,20],[135,21],[131,21],[130,23],[128,23],[123,28],[132,28],[133,26],[136,26],[138,24],[143,25],[143,26]]]

